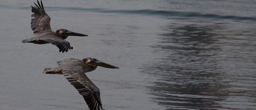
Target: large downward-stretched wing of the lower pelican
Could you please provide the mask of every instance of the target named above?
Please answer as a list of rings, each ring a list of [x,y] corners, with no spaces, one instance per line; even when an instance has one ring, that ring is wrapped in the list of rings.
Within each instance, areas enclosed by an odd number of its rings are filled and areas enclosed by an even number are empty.
[[[78,67],[77,67],[78,68]],[[100,90],[85,75],[84,72],[74,69],[62,70],[64,77],[78,90],[83,96],[90,110],[100,110],[102,108]]]

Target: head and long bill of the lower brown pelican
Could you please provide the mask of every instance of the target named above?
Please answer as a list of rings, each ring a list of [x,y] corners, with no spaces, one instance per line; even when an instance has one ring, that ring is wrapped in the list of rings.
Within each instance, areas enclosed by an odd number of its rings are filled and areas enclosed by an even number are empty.
[[[92,57],[88,57],[88,58],[83,59],[83,62],[85,64],[89,65],[89,66],[94,67],[95,69],[96,69],[97,66],[101,66],[101,67],[105,67],[105,68],[119,69],[119,67],[117,67],[117,66],[113,66],[111,64],[99,61],[99,60],[97,60],[95,58],[92,58]]]

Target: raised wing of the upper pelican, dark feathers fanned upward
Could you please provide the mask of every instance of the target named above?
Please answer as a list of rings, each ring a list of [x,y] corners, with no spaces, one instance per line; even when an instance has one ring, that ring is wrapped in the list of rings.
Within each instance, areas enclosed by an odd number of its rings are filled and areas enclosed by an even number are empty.
[[[31,5],[31,11],[34,13],[31,15],[31,17],[34,17],[31,19],[31,29],[34,31],[34,34],[51,31],[51,18],[46,14],[42,1],[40,5],[37,0],[37,4],[35,4],[36,6]]]

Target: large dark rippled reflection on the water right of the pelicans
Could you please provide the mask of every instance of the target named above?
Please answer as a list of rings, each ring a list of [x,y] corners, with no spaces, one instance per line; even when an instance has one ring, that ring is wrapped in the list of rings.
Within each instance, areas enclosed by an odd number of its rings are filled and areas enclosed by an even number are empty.
[[[228,55],[222,48],[229,44],[219,43],[221,39],[217,37],[216,30],[222,28],[221,24],[216,23],[211,26],[170,24],[164,27],[166,33],[160,34],[161,42],[152,46],[161,57],[142,71],[158,78],[153,82],[154,86],[149,87],[149,94],[156,96],[154,101],[166,106],[167,110],[256,107],[256,90],[250,90],[255,87],[252,85],[255,81],[250,82],[238,76],[234,79],[237,73],[228,73],[231,71],[223,67],[225,56]],[[246,75],[256,79],[253,73]],[[237,79],[245,84],[238,83]],[[247,83],[252,84],[245,87]],[[246,105],[239,106],[239,99],[246,101]]]

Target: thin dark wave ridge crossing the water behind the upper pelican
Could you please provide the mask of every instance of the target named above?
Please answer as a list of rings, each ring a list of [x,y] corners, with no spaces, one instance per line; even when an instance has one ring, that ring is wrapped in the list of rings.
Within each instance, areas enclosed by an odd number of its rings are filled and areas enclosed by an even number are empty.
[[[0,7],[5,7],[0,5]],[[10,7],[11,8],[11,7]],[[12,7],[13,8],[13,7]],[[20,7],[20,9],[30,9],[30,7]],[[149,16],[163,16],[163,17],[183,17],[183,18],[212,18],[212,19],[231,19],[231,20],[251,20],[256,21],[255,17],[242,16],[225,16],[218,14],[202,14],[199,12],[179,12],[179,11],[165,11],[165,10],[109,10],[103,8],[78,8],[78,7],[45,7],[47,10],[70,10],[70,11],[84,11],[84,12],[99,12],[99,13],[118,13],[118,14],[143,14]]]

